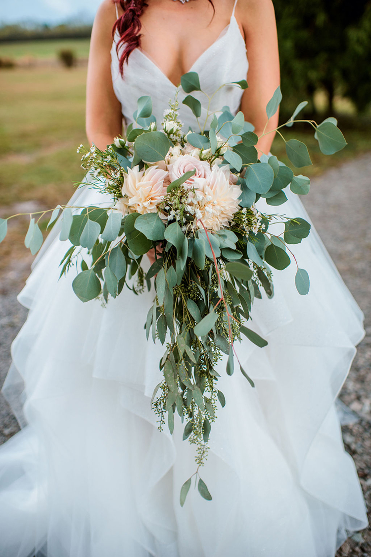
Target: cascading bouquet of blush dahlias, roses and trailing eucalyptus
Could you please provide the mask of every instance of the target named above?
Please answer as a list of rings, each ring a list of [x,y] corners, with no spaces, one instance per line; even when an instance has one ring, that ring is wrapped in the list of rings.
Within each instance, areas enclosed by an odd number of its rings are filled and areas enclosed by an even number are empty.
[[[248,86],[246,81],[229,85]],[[82,145],[78,149],[90,187],[110,194],[112,207],[58,206],[51,209],[48,226],[62,211],[60,239],[69,240],[71,247],[61,261],[61,276],[80,265],[72,287],[83,302],[101,298],[107,303],[125,284],[140,294],[145,285],[151,289],[154,278],[154,303],[145,330],[147,339],[151,335],[154,342],[166,343],[166,351],[160,362],[164,378],[155,388],[152,408],[160,429],[166,414],[171,433],[175,413],[185,423],[183,438],[196,444],[197,470],[192,476],[201,496],[211,500],[199,468],[207,457],[218,401],[222,407],[226,403],[217,388],[216,364],[224,353],[226,373],[234,373],[234,358],[239,363],[235,341],[241,335],[260,347],[267,344],[246,326],[251,306],[255,297],[261,297],[261,288],[273,296],[271,267],[286,268],[293,255],[288,245],[300,243],[310,231],[303,218],[262,214],[255,203],[263,197],[268,205],[279,206],[287,199],[286,187],[306,194],[310,180],[294,176],[274,155],[259,159],[255,146],[259,138],[242,112],[234,116],[226,107],[219,113],[208,111],[205,123],[211,122],[206,131],[199,120],[201,103],[189,94],[202,93],[199,76],[185,74],[181,87],[188,94],[182,102],[196,116],[199,133],[182,130],[177,97],[170,101],[161,127],[152,115],[151,98],[140,97],[135,125],[128,126],[125,137],[116,138],[105,151]],[[266,107],[268,120],[280,101],[278,88]],[[301,102],[283,125],[292,126],[305,105]],[[308,122],[323,153],[335,153],[347,144],[335,119],[320,125]],[[278,133],[283,138],[279,129]],[[296,168],[311,164],[304,143],[290,139],[285,144]],[[277,223],[282,231],[274,234],[272,226]],[[7,219],[0,219],[0,241],[6,232]],[[36,253],[42,241],[30,214],[26,246]],[[154,263],[145,272],[142,257],[150,250]],[[295,285],[299,294],[308,293],[308,273],[299,267]],[[181,488],[181,505],[192,476]]]

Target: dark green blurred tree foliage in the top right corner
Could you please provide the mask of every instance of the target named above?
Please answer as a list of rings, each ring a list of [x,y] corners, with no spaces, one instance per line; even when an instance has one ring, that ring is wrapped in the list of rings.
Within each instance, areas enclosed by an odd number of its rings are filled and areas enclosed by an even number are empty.
[[[273,0],[282,90],[311,101],[321,88],[334,112],[334,95],[349,96],[359,111],[371,101],[371,0]],[[299,93],[299,95],[298,95]]]

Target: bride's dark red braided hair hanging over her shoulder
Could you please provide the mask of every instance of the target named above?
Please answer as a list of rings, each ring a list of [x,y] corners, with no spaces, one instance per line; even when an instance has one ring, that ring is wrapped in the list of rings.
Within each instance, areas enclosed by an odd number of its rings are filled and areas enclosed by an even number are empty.
[[[128,57],[131,55],[135,48],[140,47],[140,30],[142,24],[140,21],[140,16],[144,9],[148,6],[145,0],[113,0],[115,4],[120,4],[123,14],[117,19],[115,25],[113,26],[112,35],[115,34],[116,30],[120,33],[120,41],[118,41],[116,50],[117,55],[120,47],[125,45],[123,52],[120,55],[120,72],[123,74],[123,65],[127,62]],[[209,0],[212,9],[214,9],[214,4],[212,0]]]

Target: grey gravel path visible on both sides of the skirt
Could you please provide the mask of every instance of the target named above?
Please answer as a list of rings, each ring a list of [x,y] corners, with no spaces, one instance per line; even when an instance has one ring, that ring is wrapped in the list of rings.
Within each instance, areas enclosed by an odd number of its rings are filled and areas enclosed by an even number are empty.
[[[366,336],[358,347],[340,398],[352,410],[348,412],[348,421],[353,423],[343,426],[344,443],[354,458],[371,510],[371,153],[313,180],[303,202],[365,314]],[[29,257],[22,258],[0,273],[0,385],[9,368],[11,341],[26,319],[26,310],[18,304],[16,295],[30,263]],[[0,397],[0,444],[17,431],[17,422]],[[337,554],[353,556],[371,557],[370,528],[355,534]]]

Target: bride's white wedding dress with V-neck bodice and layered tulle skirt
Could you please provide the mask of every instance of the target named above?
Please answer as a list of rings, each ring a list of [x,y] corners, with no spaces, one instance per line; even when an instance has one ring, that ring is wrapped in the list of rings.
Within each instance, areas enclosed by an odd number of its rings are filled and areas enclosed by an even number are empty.
[[[233,14],[192,70],[213,92],[247,69]],[[113,44],[113,85],[127,122],[147,94],[160,120],[175,86],[140,50],[124,71],[122,79]],[[235,113],[240,96],[224,87],[212,108]],[[196,129],[186,106],[180,114]],[[280,212],[308,218],[288,196]],[[73,203],[111,199],[86,185]],[[258,207],[271,209],[264,199]],[[237,345],[255,389],[220,365],[226,405],[201,469],[212,501],[192,487],[181,507],[195,451],[182,441],[180,419],[172,436],[160,432],[150,408],[164,351],[144,331],[154,290],[136,296],[125,287],[107,307],[83,304],[71,287],[75,270],[58,281],[68,248],[59,226],[18,296],[29,315],[3,393],[22,429],[0,448],[1,557],[333,557],[367,526],[334,404],[364,335],[363,315],[314,228],[293,246],[310,275],[308,296],[295,290],[293,263],[275,271],[273,299],[263,295],[252,311],[251,327],[268,346]]]

